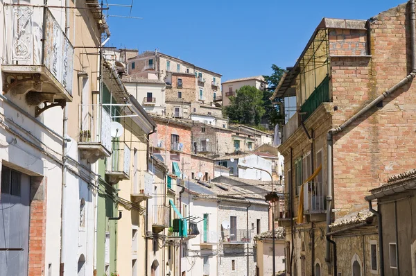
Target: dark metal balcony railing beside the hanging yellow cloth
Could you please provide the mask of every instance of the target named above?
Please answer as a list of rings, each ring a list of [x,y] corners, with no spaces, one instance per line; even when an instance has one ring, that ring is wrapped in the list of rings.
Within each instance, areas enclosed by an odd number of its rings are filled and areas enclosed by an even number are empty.
[[[304,212],[320,213],[325,211],[325,193],[322,182],[304,184]]]

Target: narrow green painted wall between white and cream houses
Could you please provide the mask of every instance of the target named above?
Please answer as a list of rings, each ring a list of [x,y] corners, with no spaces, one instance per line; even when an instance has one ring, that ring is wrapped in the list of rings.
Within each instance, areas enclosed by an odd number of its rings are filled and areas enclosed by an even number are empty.
[[[116,201],[113,199],[116,195],[116,190],[112,189],[110,184],[107,184],[103,179],[105,175],[104,161],[98,161],[98,173],[101,175],[98,189],[98,207],[97,207],[97,276],[105,275],[105,232],[110,232],[110,273],[117,271],[117,221],[109,220],[108,218],[117,217]]]

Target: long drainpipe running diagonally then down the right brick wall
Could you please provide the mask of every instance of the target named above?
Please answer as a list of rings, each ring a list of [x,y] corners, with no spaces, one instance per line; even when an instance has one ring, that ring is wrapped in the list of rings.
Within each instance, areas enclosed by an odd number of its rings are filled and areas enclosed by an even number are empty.
[[[338,126],[337,128],[331,128],[331,130],[327,133],[327,150],[328,150],[328,169],[327,169],[327,182],[328,182],[328,191],[327,191],[327,233],[329,233],[329,225],[331,224],[331,203],[332,203],[332,144],[333,144],[333,135],[345,130],[349,124],[355,121],[358,117],[365,114],[367,111],[371,110],[372,107],[375,107],[377,103],[383,101],[383,99],[390,96],[390,94],[397,91],[397,89],[404,87],[404,85],[410,83],[413,78],[416,77],[416,30],[415,30],[415,0],[410,0],[410,46],[411,46],[411,53],[412,53],[412,70],[408,76],[406,76],[403,80],[400,80],[399,83],[393,85],[389,89],[387,89],[383,94],[375,98],[371,103],[363,107],[360,111],[358,111],[353,117],[349,118],[345,121],[342,125]],[[369,30],[370,31],[370,30]],[[379,229],[380,230],[380,229]],[[331,249],[331,239],[327,236],[327,250],[325,260],[327,262],[330,261],[330,249]],[[335,252],[335,245],[334,245],[334,252]],[[336,259],[334,259],[334,262]],[[334,264],[334,268],[336,268],[336,264]]]

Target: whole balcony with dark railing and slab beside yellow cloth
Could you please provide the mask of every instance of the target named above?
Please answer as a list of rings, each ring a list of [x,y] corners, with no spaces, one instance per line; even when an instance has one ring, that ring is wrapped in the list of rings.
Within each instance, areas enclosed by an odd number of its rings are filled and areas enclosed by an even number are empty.
[[[309,215],[310,221],[324,221],[326,209],[324,184],[322,182],[304,184],[304,214]]]

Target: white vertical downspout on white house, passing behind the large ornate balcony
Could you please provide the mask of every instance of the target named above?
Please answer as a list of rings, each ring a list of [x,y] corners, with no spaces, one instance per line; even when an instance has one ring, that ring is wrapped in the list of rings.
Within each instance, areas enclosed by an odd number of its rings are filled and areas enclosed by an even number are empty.
[[[65,0],[65,6],[69,7],[69,0]],[[45,24],[44,24],[45,26]],[[65,35],[69,37],[69,8],[65,8]],[[73,72],[72,72],[73,73]],[[77,79],[78,80],[78,79]],[[68,141],[71,141],[68,137],[68,107],[64,106],[62,120],[62,192],[61,192],[61,236],[60,236],[60,275],[64,275],[65,266],[65,247],[64,247],[64,236],[65,236],[65,205],[67,202],[66,188],[67,188],[67,154],[68,154]]]

